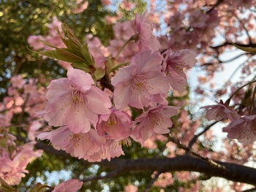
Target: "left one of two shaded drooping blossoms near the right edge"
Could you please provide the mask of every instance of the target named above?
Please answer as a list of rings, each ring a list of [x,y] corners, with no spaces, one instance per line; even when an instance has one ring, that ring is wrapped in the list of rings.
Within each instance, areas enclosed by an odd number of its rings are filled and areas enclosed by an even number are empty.
[[[222,101],[215,102],[217,102],[217,104],[200,107],[200,109],[206,109],[207,120],[236,120],[240,118],[236,110],[227,107]]]

